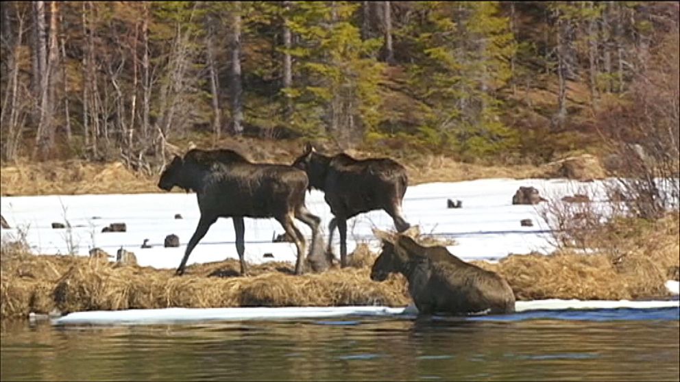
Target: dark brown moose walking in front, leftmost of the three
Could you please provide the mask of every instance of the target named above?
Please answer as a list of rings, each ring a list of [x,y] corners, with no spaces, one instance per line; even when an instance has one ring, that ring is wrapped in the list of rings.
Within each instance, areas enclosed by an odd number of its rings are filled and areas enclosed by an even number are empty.
[[[243,155],[228,149],[191,149],[184,157],[175,155],[163,170],[158,187],[170,191],[178,186],[186,192],[196,192],[201,212],[196,231],[186,246],[177,274],[184,274],[184,266],[191,251],[206,235],[217,218],[232,218],[236,231],[236,251],[241,262],[241,275],[247,275],[243,259],[245,251],[243,218],[274,218],[293,238],[298,250],[295,274],[304,272],[303,255],[306,240],[294,218],[312,229],[311,248],[319,238],[321,219],[309,212],[304,204],[308,179],[304,171],[282,164],[252,163]],[[315,266],[311,253],[308,260]],[[319,264],[319,268],[323,264]]]

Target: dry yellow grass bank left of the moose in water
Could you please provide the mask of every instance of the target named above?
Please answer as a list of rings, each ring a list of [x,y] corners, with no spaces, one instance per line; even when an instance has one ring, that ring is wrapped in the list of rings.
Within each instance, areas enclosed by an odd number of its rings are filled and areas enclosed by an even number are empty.
[[[8,253],[3,249],[1,317],[62,312],[163,307],[406,305],[404,281],[369,279],[369,268],[333,268],[292,275],[293,265],[251,267],[235,277],[239,262],[197,264],[184,277],[173,270],[117,266],[101,259]]]

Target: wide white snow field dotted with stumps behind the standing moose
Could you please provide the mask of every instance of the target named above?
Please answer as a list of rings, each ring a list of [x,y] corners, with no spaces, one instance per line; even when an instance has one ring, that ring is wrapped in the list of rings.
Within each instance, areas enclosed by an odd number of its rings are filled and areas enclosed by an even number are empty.
[[[426,183],[410,186],[404,197],[406,220],[419,225],[422,233],[439,238],[452,238],[457,245],[448,249],[463,260],[498,261],[511,253],[550,253],[548,225],[533,205],[513,205],[512,196],[520,186],[533,186],[546,199],[574,193],[587,193],[594,208],[607,208],[603,181],[579,182],[566,179],[481,179],[450,183]],[[447,199],[461,200],[462,208],[446,208]],[[328,239],[328,222],[332,218],[324,194],[317,190],[306,199],[308,209],[322,220],[324,240]],[[186,243],[199,220],[195,194],[97,194],[3,196],[3,216],[11,229],[2,229],[4,240],[25,238],[34,253],[88,255],[99,247],[111,255],[123,247],[135,253],[141,266],[175,268],[180,264]],[[175,219],[181,214],[182,219]],[[520,220],[530,218],[533,227],[522,227]],[[52,229],[52,222],[68,221],[71,229]],[[101,233],[112,222],[125,222],[127,231]],[[298,227],[311,237],[302,222]],[[366,243],[378,249],[372,229],[393,229],[387,213],[373,211],[348,221],[348,253],[357,244]],[[174,233],[180,246],[164,248],[166,235]],[[283,233],[274,219],[245,219],[245,258],[252,264],[267,261],[295,262],[295,246],[274,243],[274,234]],[[150,249],[141,249],[149,239]],[[191,253],[188,265],[238,259],[234,245],[234,227],[230,219],[218,219]],[[339,235],[335,232],[333,247],[339,253]],[[263,257],[271,253],[273,257]],[[675,285],[675,286],[674,286]],[[667,283],[677,294],[677,283]],[[675,288],[675,289],[673,289]]]

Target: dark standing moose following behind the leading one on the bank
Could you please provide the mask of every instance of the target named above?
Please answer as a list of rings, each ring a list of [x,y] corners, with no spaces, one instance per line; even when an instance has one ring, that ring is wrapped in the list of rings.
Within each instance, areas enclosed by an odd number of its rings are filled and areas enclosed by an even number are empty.
[[[397,231],[409,229],[402,214],[402,199],[409,186],[406,168],[389,158],[356,160],[340,153],[326,156],[307,143],[293,162],[309,177],[309,188],[324,192],[334,218],[328,225],[328,253],[337,227],[340,233],[340,264],[347,266],[347,220],[358,214],[384,209]]]

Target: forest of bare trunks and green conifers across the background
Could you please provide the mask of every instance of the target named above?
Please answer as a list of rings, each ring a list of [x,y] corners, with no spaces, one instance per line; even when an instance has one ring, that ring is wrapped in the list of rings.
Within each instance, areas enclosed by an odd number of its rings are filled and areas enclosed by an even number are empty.
[[[3,164],[325,140],[544,163],[677,158],[677,2],[3,1]],[[639,150],[639,149],[638,149]]]

